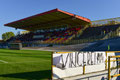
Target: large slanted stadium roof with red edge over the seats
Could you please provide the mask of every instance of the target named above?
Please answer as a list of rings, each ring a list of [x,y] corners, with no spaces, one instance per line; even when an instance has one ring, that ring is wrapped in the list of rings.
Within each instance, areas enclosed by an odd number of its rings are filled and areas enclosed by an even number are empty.
[[[90,22],[91,21],[85,17],[81,17],[59,9],[53,9],[47,12],[43,12],[18,21],[5,24],[5,26],[32,31],[40,28],[51,28],[56,25],[67,24],[70,26],[78,26],[85,25]]]

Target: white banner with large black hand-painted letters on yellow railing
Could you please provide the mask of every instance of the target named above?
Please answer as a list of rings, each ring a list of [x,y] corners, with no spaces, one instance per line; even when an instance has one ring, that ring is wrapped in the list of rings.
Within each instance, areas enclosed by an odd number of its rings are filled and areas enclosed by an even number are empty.
[[[55,62],[54,59],[53,62]],[[74,68],[83,65],[101,64],[105,62],[105,59],[105,52],[73,52],[61,54],[57,62],[63,64],[65,68]]]

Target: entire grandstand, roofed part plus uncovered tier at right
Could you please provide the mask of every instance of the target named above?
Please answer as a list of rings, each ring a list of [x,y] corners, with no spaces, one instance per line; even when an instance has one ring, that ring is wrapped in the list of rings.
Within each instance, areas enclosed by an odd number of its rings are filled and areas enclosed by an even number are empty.
[[[7,40],[23,47],[76,45],[119,37],[120,18],[91,21],[60,9],[53,9],[4,26],[26,32]]]

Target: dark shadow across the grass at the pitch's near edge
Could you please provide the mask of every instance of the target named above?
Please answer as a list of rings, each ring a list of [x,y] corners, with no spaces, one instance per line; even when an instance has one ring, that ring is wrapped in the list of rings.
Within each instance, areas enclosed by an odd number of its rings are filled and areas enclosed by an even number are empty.
[[[26,80],[51,79],[51,70],[4,74],[4,75],[0,75],[0,77],[19,78]]]

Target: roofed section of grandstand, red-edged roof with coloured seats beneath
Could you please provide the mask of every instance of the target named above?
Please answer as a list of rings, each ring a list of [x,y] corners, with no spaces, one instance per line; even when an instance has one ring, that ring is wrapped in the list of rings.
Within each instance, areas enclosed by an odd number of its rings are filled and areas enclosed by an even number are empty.
[[[22,42],[23,44],[27,43],[29,46],[39,43],[46,46],[68,42],[81,32],[81,29],[85,28],[87,24],[90,24],[90,20],[87,18],[54,9],[5,24],[5,26],[30,31],[13,37],[8,42]]]

